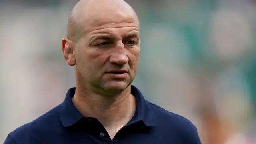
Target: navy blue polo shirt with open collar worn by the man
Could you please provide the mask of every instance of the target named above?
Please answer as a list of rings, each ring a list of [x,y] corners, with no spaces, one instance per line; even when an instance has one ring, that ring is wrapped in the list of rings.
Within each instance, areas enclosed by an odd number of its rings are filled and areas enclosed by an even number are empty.
[[[76,109],[74,93],[70,88],[64,102],[8,134],[4,144],[201,144],[190,121],[148,102],[135,86],[136,112],[111,140],[96,118]]]

